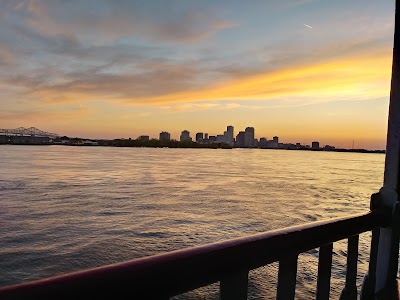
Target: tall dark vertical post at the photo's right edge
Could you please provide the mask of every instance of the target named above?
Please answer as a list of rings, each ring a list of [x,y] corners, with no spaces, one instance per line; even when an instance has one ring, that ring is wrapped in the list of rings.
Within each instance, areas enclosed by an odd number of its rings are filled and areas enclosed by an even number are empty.
[[[386,145],[385,176],[381,189],[382,205],[393,210],[397,204],[399,191],[400,160],[400,0],[396,0],[395,30],[393,43],[392,81],[390,90],[389,119]],[[393,216],[396,218],[397,216]],[[376,265],[377,293],[390,288],[395,283],[398,269],[399,236],[395,225],[380,229],[378,257]]]

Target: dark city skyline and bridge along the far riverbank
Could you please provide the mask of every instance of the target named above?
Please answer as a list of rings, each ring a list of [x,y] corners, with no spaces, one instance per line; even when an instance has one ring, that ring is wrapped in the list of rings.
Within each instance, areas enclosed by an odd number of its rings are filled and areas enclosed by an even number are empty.
[[[352,148],[340,148],[329,144],[320,144],[319,141],[311,143],[282,142],[278,136],[272,139],[267,137],[255,137],[255,128],[246,127],[239,130],[235,137],[234,126],[228,125],[223,134],[209,135],[204,132],[196,132],[194,138],[190,131],[183,130],[179,139],[171,138],[167,131],[161,131],[159,138],[148,135],[140,135],[135,138],[119,139],[88,139],[85,137],[62,136],[57,133],[50,133],[36,127],[18,127],[14,129],[0,128],[0,144],[14,145],[74,145],[74,146],[123,146],[123,147],[168,147],[168,148],[261,148],[281,150],[325,150],[325,151],[352,151],[383,153],[384,149],[355,148],[354,141]]]

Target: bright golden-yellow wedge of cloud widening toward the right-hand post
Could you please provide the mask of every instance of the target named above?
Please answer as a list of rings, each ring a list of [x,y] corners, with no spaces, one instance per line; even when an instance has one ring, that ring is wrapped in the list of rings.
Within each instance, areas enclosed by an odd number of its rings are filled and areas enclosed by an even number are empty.
[[[155,97],[135,97],[135,103],[164,104],[210,100],[306,97],[310,101],[371,99],[389,94],[391,53],[364,54],[291,66],[223,84]]]

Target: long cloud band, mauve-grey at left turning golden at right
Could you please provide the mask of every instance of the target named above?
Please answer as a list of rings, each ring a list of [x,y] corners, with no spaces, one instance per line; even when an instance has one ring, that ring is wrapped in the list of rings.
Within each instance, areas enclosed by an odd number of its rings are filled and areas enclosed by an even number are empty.
[[[354,49],[356,50],[356,49]],[[366,51],[368,50],[368,51]],[[291,100],[300,104],[389,95],[391,52],[387,47],[329,56],[314,53],[274,70],[221,73],[216,82],[195,64],[148,63],[146,72],[96,74],[90,70],[65,76],[65,82],[46,83],[24,76],[6,82],[25,95],[49,104],[110,101],[150,106],[221,100]],[[69,77],[68,77],[69,76]],[[199,79],[204,82],[197,84]]]

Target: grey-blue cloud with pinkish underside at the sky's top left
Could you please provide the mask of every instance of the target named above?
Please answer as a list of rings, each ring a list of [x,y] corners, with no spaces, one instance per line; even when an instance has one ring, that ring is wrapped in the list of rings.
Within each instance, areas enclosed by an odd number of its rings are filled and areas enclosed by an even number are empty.
[[[190,42],[238,26],[202,5],[182,4],[180,1],[102,0],[94,4],[76,0],[20,0],[5,1],[2,7],[23,16],[24,23],[40,34],[53,37],[78,34],[81,39],[93,43],[126,37]]]

